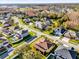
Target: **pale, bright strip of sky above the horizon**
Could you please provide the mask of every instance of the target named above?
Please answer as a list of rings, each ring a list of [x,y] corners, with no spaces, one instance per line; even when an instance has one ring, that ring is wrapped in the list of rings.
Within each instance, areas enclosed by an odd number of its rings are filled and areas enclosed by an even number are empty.
[[[79,0],[0,0],[0,4],[15,3],[79,3]]]

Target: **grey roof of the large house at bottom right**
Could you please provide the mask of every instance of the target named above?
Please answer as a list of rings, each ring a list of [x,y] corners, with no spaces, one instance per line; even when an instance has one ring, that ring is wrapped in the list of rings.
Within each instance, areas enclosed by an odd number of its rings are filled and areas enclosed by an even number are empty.
[[[55,54],[61,58],[66,58],[66,59],[76,59],[76,52],[73,51],[73,50],[69,50],[69,49],[66,49],[66,48],[61,48],[60,49],[57,49],[55,51]]]

